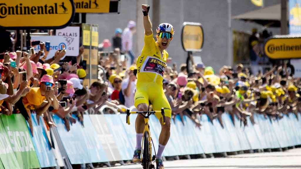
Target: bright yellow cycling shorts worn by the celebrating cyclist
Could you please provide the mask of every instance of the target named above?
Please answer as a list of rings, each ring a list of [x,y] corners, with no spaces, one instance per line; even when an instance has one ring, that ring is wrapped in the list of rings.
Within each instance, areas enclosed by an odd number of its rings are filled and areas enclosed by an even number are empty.
[[[149,105],[149,101],[153,105],[154,111],[160,111],[163,107],[165,116],[171,118],[171,108],[164,94],[162,85],[154,82],[137,82],[135,93],[135,107],[140,103]],[[160,120],[160,115],[157,115]]]

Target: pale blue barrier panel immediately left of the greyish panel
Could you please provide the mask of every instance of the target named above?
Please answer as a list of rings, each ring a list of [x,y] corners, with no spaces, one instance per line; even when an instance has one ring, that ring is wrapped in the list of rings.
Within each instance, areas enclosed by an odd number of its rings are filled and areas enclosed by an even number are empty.
[[[82,128],[82,136],[87,144],[92,163],[109,161],[101,143],[97,139],[97,134],[89,115],[84,115],[84,126]]]

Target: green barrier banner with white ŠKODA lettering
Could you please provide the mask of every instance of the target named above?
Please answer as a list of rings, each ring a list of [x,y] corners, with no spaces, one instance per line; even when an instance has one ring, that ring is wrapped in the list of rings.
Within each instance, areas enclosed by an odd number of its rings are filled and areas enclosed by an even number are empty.
[[[10,116],[1,115],[0,117],[3,126],[5,126],[4,129],[6,131],[8,141],[11,144],[11,149],[17,158],[19,166],[25,169],[39,168],[40,164],[33,146],[33,141],[23,116],[21,114],[13,114]],[[0,157],[2,159],[2,156]],[[4,162],[3,159],[2,162]],[[5,166],[5,168],[17,167]]]

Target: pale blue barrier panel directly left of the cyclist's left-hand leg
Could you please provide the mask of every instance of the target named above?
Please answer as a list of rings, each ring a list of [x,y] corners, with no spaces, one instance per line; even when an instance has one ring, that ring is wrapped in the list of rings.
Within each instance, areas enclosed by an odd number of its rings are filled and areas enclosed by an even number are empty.
[[[129,142],[131,147],[132,153],[134,153],[136,149],[136,129],[135,129],[135,121],[136,121],[137,114],[131,114],[130,115],[130,125],[126,123],[126,114],[120,114],[119,118],[121,120],[121,123],[123,124],[126,134],[128,135]]]

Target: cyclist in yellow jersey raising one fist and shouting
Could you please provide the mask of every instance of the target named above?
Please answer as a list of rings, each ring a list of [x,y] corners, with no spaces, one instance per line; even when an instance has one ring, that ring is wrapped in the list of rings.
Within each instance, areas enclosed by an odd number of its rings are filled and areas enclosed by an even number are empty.
[[[156,155],[157,169],[164,169],[162,162],[162,152],[170,136],[171,108],[163,91],[163,73],[166,67],[168,47],[174,28],[169,23],[161,23],[157,27],[157,41],[153,38],[151,21],[148,17],[149,5],[142,5],[143,26],[144,26],[144,47],[141,55],[137,58],[137,86],[135,93],[135,106],[138,111],[147,111],[149,101],[155,111],[160,111],[163,107],[165,112],[165,125],[161,124],[162,130],[159,137],[159,148]],[[160,117],[157,117],[160,118]],[[161,121],[160,121],[161,122]],[[136,118],[136,150],[133,162],[140,162],[141,141],[144,130],[144,118],[138,114]]]

